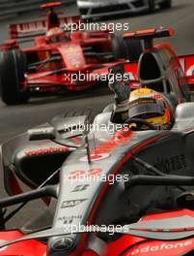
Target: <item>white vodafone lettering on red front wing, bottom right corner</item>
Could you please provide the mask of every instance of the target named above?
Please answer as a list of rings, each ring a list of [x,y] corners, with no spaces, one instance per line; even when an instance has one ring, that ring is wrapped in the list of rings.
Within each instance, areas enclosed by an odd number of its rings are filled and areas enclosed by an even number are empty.
[[[152,255],[152,253],[162,253],[166,250],[172,250],[172,249],[180,249],[186,246],[189,246],[192,244],[192,240],[186,240],[182,242],[175,242],[175,243],[160,243],[160,244],[155,244],[155,245],[148,245],[139,249],[134,249],[131,252],[127,253],[126,256],[132,256],[132,255],[142,255],[143,253],[147,255]],[[175,251],[176,253],[176,251]],[[154,254],[155,255],[155,254]],[[175,254],[176,255],[176,254]]]

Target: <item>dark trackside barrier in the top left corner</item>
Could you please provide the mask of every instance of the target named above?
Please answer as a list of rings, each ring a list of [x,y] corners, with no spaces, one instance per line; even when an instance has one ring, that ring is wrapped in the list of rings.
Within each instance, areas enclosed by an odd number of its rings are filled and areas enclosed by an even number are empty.
[[[0,18],[24,14],[40,9],[40,5],[50,1],[42,0],[1,0]],[[54,1],[53,1],[54,2]],[[63,6],[75,3],[75,0],[61,0]]]

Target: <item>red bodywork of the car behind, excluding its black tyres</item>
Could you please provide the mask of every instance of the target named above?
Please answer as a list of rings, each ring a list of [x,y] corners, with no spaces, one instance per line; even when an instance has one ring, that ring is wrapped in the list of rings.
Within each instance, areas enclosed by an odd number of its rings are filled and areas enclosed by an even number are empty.
[[[28,72],[20,84],[23,89],[38,92],[84,90],[100,82],[100,75],[107,75],[110,66],[122,61],[115,61],[113,56],[110,59],[112,37],[109,30],[84,31],[79,16],[59,17],[59,13],[52,10],[59,5],[60,2],[42,5],[51,9],[47,20],[10,25],[10,40],[1,48],[25,52]],[[34,41],[33,47],[19,47],[30,41]]]

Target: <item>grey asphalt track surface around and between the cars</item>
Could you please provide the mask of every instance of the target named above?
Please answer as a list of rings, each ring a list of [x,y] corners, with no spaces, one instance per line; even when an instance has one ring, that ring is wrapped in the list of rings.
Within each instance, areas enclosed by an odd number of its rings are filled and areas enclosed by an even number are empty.
[[[64,10],[66,15],[76,15],[76,6],[68,7]],[[174,0],[173,8],[166,11],[157,11],[155,14],[114,17],[106,22],[128,22],[130,30],[147,29],[159,26],[174,27],[176,36],[165,39],[179,54],[194,52],[194,1]],[[26,16],[15,16],[9,20],[0,21],[0,44],[6,38],[6,27],[9,22],[19,22],[36,18],[38,14]],[[159,42],[159,41],[158,41]],[[14,107],[5,106],[0,101],[0,144],[15,135],[26,131],[26,129],[41,124],[52,116],[71,111],[95,110],[100,111],[105,105],[111,102],[112,95],[105,87],[95,88],[81,93],[69,93],[63,96],[47,96],[32,98],[27,105]],[[43,171],[43,170],[42,170]],[[36,170],[35,170],[36,172]],[[3,176],[0,175],[0,195],[6,195],[3,187]],[[17,214],[8,227],[15,228],[24,224],[31,217],[36,215],[42,204],[30,203],[21,213]]]

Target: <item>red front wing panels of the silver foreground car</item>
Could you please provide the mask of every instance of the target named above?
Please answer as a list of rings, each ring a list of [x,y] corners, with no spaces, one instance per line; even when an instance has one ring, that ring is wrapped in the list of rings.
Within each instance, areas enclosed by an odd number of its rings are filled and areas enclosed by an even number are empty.
[[[149,214],[141,218],[141,221],[156,219],[173,218],[179,216],[192,216],[194,212],[189,209],[180,209],[166,211],[162,213]],[[162,229],[162,227],[161,227]],[[15,240],[24,235],[19,231],[0,232],[0,241]],[[148,240],[144,238],[124,235],[120,239],[110,242],[104,246],[103,253],[100,256],[132,256],[145,255],[157,256],[160,253],[163,256],[180,256],[194,249],[194,238],[185,240]],[[22,254],[21,254],[22,252]],[[0,249],[0,255],[4,256],[42,256],[46,252],[46,245],[38,240],[20,241]],[[97,256],[97,253],[91,250],[85,250],[80,256]]]

